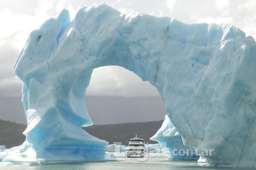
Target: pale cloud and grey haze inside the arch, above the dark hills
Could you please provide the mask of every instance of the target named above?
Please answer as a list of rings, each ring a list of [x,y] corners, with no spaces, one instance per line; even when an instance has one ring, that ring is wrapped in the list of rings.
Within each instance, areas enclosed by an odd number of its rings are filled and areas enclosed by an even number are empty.
[[[93,70],[85,105],[94,125],[158,121],[166,115],[156,88],[119,66]]]

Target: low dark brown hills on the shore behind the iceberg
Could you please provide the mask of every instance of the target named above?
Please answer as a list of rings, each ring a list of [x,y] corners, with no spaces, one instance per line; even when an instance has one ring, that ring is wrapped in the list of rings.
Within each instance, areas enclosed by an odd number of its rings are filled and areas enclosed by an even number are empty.
[[[162,123],[163,120],[111,125],[92,125],[83,127],[83,129],[99,139],[108,141],[109,144],[113,144],[113,142],[122,142],[122,144],[128,145],[128,140],[133,138],[135,133],[138,133],[138,136],[143,138],[145,142],[154,144],[157,142],[151,141],[149,138],[157,132]],[[22,134],[26,129],[26,125],[0,120],[0,129],[0,145],[5,145],[6,148],[18,146],[26,139],[26,136]]]

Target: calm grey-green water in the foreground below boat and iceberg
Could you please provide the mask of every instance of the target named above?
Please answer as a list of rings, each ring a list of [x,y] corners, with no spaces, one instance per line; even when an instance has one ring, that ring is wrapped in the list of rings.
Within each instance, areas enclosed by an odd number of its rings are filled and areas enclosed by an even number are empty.
[[[167,157],[144,159],[122,157],[122,159],[122,161],[110,162],[0,166],[0,170],[249,170],[248,168],[202,167],[197,161],[168,161]]]

